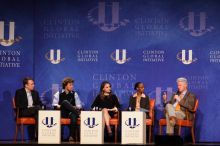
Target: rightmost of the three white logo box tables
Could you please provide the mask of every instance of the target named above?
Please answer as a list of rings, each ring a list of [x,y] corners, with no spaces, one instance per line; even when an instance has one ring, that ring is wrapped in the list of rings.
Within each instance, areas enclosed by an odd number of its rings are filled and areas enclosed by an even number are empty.
[[[146,143],[146,113],[122,112],[122,144],[145,144]]]

